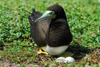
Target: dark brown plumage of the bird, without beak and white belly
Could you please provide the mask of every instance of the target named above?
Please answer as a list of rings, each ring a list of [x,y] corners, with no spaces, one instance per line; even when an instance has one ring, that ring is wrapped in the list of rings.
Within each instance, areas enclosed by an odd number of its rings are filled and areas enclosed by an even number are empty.
[[[31,36],[35,43],[39,46],[58,47],[69,45],[72,41],[72,34],[69,29],[67,18],[64,9],[55,4],[47,8],[54,11],[56,17],[54,19],[45,19],[39,22],[34,22],[42,14],[33,9],[33,15],[28,17],[31,24]]]

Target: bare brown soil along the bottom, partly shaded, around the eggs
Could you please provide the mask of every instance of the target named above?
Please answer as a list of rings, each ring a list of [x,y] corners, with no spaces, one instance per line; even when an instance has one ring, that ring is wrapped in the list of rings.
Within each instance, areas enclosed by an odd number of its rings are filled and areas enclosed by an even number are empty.
[[[100,65],[100,47],[98,47],[94,50],[90,50],[83,46],[72,45],[66,51],[70,51],[70,52],[74,53],[73,58],[76,60],[75,64],[86,65],[86,63],[88,62],[89,65],[91,65],[91,64]],[[25,66],[30,67],[31,64],[35,64],[35,65],[44,67],[44,63],[49,62],[49,64],[51,64],[52,62],[54,62],[56,60],[57,57],[58,56],[50,56],[50,55],[40,54],[40,55],[36,56],[34,61],[32,61],[30,63],[25,63]],[[80,61],[83,61],[83,62],[80,62]],[[7,67],[18,67],[19,65],[20,65],[20,63],[16,64],[16,63],[11,62],[6,59],[0,61],[0,67],[6,67],[6,66]],[[63,63],[57,64],[57,65],[63,65]]]

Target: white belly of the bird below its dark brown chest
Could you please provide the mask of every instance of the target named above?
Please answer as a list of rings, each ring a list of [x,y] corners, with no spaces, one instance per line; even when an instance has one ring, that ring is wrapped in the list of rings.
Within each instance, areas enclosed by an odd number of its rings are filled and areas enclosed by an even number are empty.
[[[49,45],[47,45],[45,47],[45,50],[51,54],[51,55],[60,55],[62,54],[66,49],[68,48],[68,46],[60,46],[60,47],[50,47]]]

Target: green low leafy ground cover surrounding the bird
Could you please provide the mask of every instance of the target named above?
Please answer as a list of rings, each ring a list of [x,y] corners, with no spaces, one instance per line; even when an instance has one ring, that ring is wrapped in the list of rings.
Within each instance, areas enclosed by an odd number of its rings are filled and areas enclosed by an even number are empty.
[[[44,13],[53,4],[61,5],[66,12],[73,34],[71,44],[91,50],[100,47],[100,3],[97,0],[0,0],[0,46],[4,46],[0,60],[29,63],[35,59],[33,46],[36,44],[30,37],[28,21],[30,14],[23,9],[31,12],[34,8]]]

